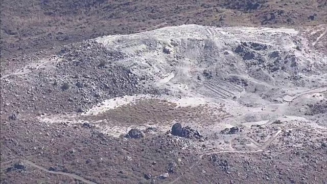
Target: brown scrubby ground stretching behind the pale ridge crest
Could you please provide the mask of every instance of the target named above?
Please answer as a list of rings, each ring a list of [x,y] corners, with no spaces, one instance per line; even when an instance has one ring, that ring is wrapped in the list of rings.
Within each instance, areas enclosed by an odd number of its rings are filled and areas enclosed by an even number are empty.
[[[325,2],[321,0],[220,0],[178,4],[175,1],[4,0],[1,3],[1,57],[48,50],[54,45],[102,35],[130,34],[181,24],[260,26],[264,22],[266,26],[299,26],[327,21]],[[278,14],[276,10],[283,13]],[[314,13],[317,19],[308,20]]]

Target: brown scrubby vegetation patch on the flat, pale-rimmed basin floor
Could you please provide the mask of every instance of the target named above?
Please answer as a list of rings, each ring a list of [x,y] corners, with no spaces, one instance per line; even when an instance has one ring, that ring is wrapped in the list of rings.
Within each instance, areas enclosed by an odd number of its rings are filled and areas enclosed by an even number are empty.
[[[217,119],[223,120],[225,112],[214,110],[208,106],[199,105],[196,107],[180,107],[177,104],[161,100],[142,100],[137,104],[127,104],[104,112],[97,116],[80,117],[81,121],[103,121],[111,120],[113,125],[121,124],[126,126],[142,125],[148,122],[172,122],[174,120],[190,123],[199,122],[209,117],[205,125],[215,124]],[[200,113],[202,112],[202,113]],[[155,116],[153,116],[155,114]],[[105,124],[104,124],[105,125]],[[105,125],[108,126],[108,125]]]

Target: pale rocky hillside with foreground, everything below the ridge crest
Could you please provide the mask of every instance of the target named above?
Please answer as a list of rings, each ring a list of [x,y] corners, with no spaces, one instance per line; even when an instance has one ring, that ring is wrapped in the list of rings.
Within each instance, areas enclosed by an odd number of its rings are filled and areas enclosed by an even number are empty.
[[[31,59],[1,77],[1,181],[327,182],[327,56],[308,30],[184,25]]]

